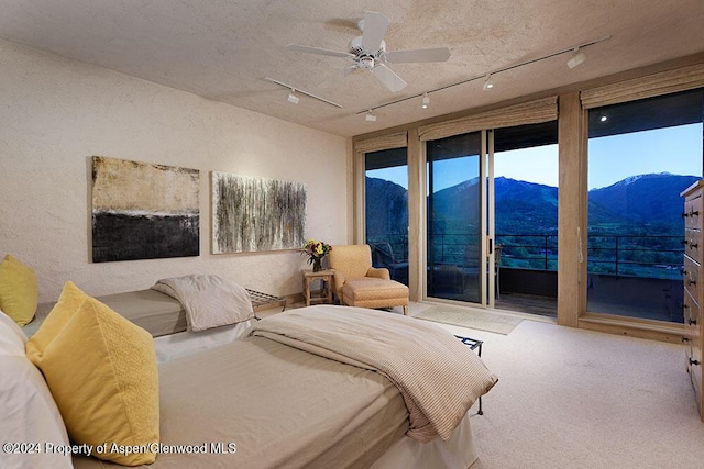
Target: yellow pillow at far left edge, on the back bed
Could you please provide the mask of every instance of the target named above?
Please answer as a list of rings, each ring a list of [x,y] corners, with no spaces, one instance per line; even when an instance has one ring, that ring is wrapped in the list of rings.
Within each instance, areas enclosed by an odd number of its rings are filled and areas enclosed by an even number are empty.
[[[34,317],[40,299],[36,275],[11,255],[0,263],[0,310],[23,326]]]

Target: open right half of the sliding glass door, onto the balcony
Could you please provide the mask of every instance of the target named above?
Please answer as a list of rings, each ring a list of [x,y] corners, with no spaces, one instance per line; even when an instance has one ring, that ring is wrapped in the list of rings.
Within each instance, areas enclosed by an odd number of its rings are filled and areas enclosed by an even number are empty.
[[[493,148],[496,308],[556,317],[558,121],[497,129]]]

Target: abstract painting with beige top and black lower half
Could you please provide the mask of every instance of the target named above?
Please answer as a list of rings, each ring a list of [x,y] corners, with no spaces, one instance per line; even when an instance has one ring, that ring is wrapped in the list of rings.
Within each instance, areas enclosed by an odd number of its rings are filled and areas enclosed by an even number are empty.
[[[92,261],[200,254],[200,171],[92,157]]]

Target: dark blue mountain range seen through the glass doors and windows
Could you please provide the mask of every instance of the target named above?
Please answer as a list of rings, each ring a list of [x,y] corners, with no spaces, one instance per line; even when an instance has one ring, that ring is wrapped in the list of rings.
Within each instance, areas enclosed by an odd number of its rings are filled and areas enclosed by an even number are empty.
[[[588,191],[590,227],[601,231],[648,231],[653,225],[682,230],[683,200],[680,192],[697,181],[696,176],[669,172],[631,176],[612,186]],[[432,222],[472,226],[479,219],[479,179],[437,191],[428,199]],[[496,178],[496,233],[557,233],[558,188],[505,177]],[[366,179],[367,235],[404,234],[408,226],[408,193],[395,182]],[[438,226],[440,227],[440,226]],[[660,233],[662,234],[662,233]]]

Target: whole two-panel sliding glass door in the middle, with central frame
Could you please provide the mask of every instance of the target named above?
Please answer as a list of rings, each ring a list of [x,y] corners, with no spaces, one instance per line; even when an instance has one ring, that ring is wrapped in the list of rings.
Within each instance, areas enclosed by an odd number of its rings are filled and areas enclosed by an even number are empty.
[[[427,297],[556,315],[557,143],[557,121],[427,142]]]

